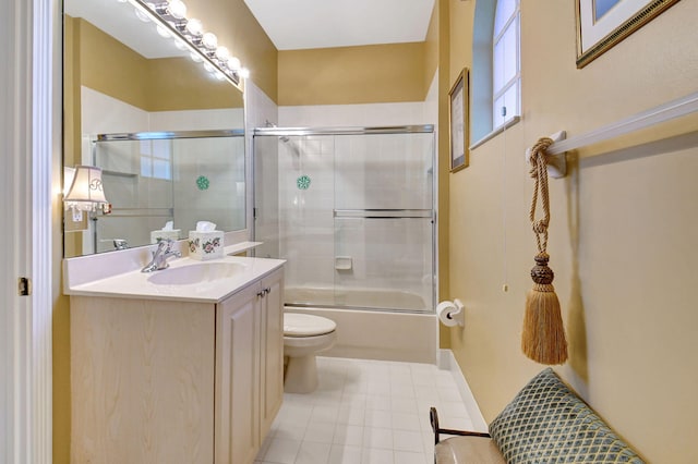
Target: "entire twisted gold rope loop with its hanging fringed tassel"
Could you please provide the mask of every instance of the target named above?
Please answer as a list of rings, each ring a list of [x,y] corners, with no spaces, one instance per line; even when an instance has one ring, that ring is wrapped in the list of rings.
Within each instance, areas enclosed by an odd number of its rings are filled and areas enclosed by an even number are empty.
[[[547,137],[540,138],[531,148],[529,163],[534,179],[533,199],[529,218],[535,234],[538,255],[531,269],[533,288],[526,297],[526,315],[521,350],[529,358],[541,364],[563,364],[567,361],[567,340],[559,309],[559,301],[553,288],[553,270],[547,267],[547,227],[550,225],[550,199],[547,191],[547,161],[545,150],[553,144]],[[535,219],[538,203],[543,217]]]

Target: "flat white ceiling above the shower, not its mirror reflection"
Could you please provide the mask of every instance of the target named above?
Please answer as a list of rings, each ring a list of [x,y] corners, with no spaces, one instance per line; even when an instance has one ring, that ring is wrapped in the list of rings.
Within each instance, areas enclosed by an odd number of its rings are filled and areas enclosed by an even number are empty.
[[[244,0],[279,50],[423,41],[434,0]]]

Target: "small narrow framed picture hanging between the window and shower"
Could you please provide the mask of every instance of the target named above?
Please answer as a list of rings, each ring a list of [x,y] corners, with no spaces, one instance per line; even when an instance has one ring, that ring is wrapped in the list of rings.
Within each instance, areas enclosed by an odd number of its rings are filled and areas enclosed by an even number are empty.
[[[469,73],[464,70],[448,91],[448,136],[450,141],[450,172],[468,166]]]

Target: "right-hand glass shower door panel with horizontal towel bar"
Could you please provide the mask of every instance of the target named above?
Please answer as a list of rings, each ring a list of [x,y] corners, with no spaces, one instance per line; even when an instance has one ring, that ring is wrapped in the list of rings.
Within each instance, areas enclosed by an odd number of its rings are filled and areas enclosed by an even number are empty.
[[[432,134],[338,136],[335,146],[335,300],[433,308]]]

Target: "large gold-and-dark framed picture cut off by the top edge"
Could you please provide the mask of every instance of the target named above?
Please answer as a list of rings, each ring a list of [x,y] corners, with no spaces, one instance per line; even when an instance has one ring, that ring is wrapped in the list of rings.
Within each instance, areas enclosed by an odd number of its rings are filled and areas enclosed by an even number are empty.
[[[577,68],[583,68],[678,0],[576,0]]]

